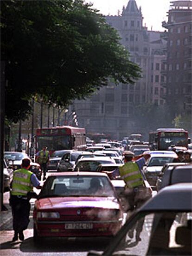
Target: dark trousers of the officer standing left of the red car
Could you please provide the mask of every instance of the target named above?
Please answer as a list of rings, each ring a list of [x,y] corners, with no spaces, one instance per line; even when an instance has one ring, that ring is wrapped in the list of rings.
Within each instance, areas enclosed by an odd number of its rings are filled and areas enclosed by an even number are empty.
[[[10,205],[13,215],[13,230],[21,232],[27,229],[30,215],[30,202],[25,196],[11,195]]]

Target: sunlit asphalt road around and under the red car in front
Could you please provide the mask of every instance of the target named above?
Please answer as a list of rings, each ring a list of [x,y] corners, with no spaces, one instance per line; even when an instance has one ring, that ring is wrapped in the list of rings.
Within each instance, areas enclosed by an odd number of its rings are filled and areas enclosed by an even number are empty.
[[[8,193],[4,197],[6,197],[6,201],[8,198]],[[66,256],[86,256],[90,250],[103,251],[107,244],[108,240],[90,240],[88,239],[45,239],[41,240],[38,245],[33,242],[33,220],[32,220],[32,212],[34,201],[31,200],[31,213],[30,213],[30,223],[28,229],[24,231],[25,240],[20,242],[12,243],[11,240],[13,238],[13,230],[12,230],[12,218],[9,215],[6,224],[1,225],[0,230],[0,256],[19,256],[19,255],[66,255]],[[146,250],[146,244],[148,241],[148,231],[150,229],[151,222],[150,219],[145,221],[145,225],[143,228],[143,232],[141,234],[141,242],[135,242],[135,239],[127,238],[127,248],[130,250],[132,255],[144,255],[143,253]]]

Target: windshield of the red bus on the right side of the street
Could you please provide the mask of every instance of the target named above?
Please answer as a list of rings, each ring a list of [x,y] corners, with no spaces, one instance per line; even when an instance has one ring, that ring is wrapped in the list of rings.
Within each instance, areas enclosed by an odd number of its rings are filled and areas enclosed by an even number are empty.
[[[164,150],[170,146],[187,146],[187,138],[185,133],[161,133],[160,149]]]

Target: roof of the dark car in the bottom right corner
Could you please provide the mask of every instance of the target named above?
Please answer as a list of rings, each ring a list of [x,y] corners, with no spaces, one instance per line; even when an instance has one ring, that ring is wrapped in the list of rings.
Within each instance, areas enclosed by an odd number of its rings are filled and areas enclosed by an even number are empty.
[[[184,200],[185,198],[185,200]],[[177,183],[161,189],[141,211],[192,211],[192,183]]]

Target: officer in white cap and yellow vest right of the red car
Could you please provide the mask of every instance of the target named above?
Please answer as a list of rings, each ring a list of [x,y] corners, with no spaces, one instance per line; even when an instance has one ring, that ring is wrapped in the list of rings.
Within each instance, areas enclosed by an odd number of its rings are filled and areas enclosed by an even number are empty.
[[[149,154],[137,156],[137,160],[133,162],[134,153],[131,151],[124,151],[124,165],[119,167],[119,170],[115,170],[113,175],[120,175],[125,182],[125,197],[127,199],[128,216],[133,211],[146,202],[152,196],[152,190],[145,187],[145,174],[142,172],[142,168],[145,165],[147,159],[150,157]],[[118,172],[118,173],[117,173]],[[143,228],[144,219],[141,219],[137,223],[136,227],[130,230],[128,236],[133,238],[134,229],[136,230],[136,241],[141,241],[141,231]]]

